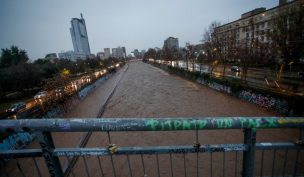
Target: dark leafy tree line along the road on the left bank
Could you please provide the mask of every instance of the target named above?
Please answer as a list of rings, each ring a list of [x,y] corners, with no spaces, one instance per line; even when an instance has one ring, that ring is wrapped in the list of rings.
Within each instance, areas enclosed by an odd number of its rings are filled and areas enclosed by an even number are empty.
[[[0,99],[7,94],[18,92],[23,96],[31,95],[41,89],[48,80],[63,77],[68,71],[69,76],[89,73],[107,68],[117,62],[116,58],[100,60],[98,58],[78,59],[37,59],[29,60],[27,52],[17,46],[1,49],[0,55]]]

